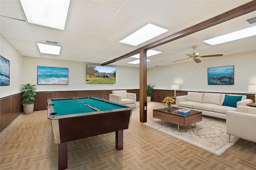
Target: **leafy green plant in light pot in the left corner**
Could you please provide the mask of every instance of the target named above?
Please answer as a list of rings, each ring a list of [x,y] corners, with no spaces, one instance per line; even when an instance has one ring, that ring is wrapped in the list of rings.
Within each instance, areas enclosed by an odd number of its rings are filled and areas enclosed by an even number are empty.
[[[31,114],[34,111],[34,100],[36,96],[36,85],[22,84],[22,104],[24,114]]]

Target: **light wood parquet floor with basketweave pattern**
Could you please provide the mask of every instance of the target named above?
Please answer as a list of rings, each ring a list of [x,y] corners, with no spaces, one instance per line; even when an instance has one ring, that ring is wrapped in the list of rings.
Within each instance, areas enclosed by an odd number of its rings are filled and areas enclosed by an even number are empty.
[[[154,119],[152,109],[162,107],[166,104],[148,103],[148,121]],[[0,170],[57,169],[57,145],[46,110],[21,114],[0,134]],[[71,141],[68,170],[256,170],[256,143],[240,139],[215,156],[143,125],[136,107],[124,130],[123,150],[115,149],[115,133]]]

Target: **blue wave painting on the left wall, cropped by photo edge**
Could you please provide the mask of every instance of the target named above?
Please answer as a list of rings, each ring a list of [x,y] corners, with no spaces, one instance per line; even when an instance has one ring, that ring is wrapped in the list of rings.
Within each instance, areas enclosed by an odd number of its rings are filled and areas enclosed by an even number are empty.
[[[0,86],[10,85],[10,61],[0,56]]]

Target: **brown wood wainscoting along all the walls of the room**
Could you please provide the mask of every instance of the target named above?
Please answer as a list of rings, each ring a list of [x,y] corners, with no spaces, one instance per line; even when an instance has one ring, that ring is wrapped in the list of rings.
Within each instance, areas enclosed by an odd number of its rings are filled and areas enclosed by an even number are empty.
[[[139,101],[139,89],[127,90],[130,93],[136,93],[136,100]],[[176,90],[176,96],[186,95],[188,91]],[[209,92],[210,93],[210,92]],[[106,97],[109,100],[109,94],[112,90],[80,90],[80,91],[59,91],[59,92],[36,92],[34,102],[34,111],[46,110],[47,100],[52,98],[78,98],[84,96],[91,96],[96,98]],[[228,93],[227,93],[228,94]],[[235,93],[232,93],[235,94]],[[254,94],[240,94],[246,95],[248,99],[254,101]],[[162,102],[166,96],[174,96],[174,90],[157,90],[154,89],[151,100],[153,102]],[[0,98],[0,131],[4,130],[20,113],[22,109],[22,93],[14,94],[4,98]]]

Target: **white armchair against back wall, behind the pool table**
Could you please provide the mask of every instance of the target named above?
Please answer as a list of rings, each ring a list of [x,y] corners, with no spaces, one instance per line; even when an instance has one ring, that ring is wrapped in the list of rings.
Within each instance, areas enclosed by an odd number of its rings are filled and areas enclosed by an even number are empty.
[[[109,94],[109,101],[136,107],[136,94],[127,93],[126,90],[112,90],[112,94]]]

